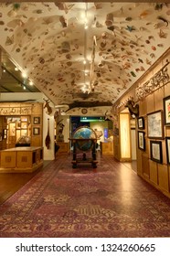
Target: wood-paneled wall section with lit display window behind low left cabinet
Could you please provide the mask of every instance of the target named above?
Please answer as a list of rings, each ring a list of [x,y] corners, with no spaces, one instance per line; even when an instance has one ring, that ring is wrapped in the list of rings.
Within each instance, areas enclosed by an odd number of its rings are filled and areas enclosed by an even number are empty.
[[[31,146],[42,146],[42,127],[43,102],[1,102],[1,149],[15,147],[21,136],[30,136]]]

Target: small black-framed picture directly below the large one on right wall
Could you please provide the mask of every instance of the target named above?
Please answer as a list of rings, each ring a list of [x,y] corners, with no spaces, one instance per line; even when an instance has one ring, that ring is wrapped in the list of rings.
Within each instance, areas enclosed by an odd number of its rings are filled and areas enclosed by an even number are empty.
[[[151,160],[162,164],[163,163],[162,142],[150,141],[150,154],[151,154]]]

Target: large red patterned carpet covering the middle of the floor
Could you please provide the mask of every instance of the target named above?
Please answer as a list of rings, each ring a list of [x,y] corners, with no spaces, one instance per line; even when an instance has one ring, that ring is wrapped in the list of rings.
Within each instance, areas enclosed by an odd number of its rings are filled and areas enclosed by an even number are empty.
[[[72,169],[61,156],[0,206],[0,237],[169,237],[170,199],[103,156]]]

